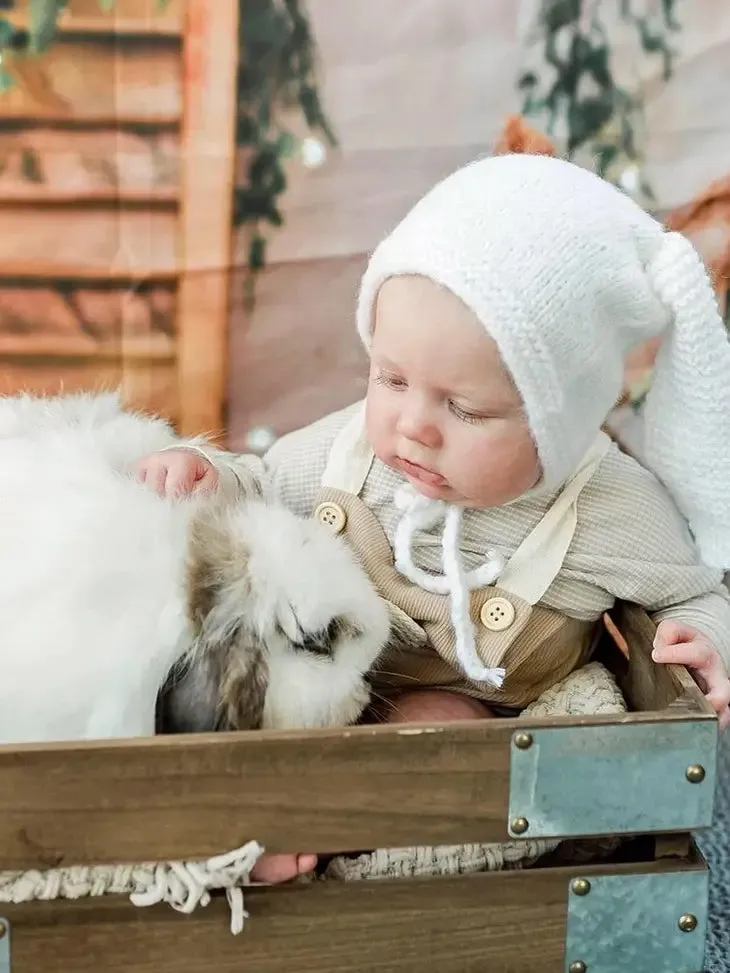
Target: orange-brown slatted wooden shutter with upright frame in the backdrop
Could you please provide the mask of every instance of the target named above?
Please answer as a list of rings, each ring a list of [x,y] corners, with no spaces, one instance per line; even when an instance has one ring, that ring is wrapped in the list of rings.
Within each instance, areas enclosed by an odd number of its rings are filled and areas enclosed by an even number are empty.
[[[12,18],[26,21],[28,0]],[[0,96],[0,392],[224,426],[238,0],[71,0]]]

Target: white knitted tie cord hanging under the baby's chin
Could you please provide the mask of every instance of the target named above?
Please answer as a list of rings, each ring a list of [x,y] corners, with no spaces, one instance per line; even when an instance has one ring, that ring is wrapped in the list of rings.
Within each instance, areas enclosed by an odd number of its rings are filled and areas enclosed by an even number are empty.
[[[451,608],[451,625],[456,640],[456,655],[469,679],[486,682],[500,688],[504,682],[504,669],[489,669],[482,664],[476,649],[474,624],[469,613],[470,592],[494,584],[504,570],[502,559],[489,553],[487,560],[465,571],[459,553],[461,507],[429,500],[410,486],[403,486],[395,495],[396,507],[403,512],[395,532],[395,567],[413,584],[425,591],[448,594]],[[430,574],[413,563],[413,535],[417,530],[429,530],[443,522],[441,557],[444,573]]]

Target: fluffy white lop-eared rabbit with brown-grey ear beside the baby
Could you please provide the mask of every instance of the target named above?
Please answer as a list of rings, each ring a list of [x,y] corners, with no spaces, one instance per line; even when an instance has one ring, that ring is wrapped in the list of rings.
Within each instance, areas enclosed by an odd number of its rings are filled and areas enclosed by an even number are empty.
[[[0,743],[337,726],[367,705],[390,626],[355,556],[253,473],[180,500],[138,483],[177,441],[113,395],[0,398]]]

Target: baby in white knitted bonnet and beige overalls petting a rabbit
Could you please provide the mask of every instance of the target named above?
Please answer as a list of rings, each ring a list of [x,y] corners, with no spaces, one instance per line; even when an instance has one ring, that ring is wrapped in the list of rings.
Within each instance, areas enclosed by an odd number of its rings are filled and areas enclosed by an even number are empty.
[[[285,436],[275,496],[341,532],[402,622],[390,721],[519,712],[589,658],[616,599],[730,721],[730,346],[683,237],[571,163],[499,156],[432,189],[375,250],[364,403]],[[662,334],[644,468],[601,432],[625,355]],[[251,457],[167,450],[139,475],[214,488]],[[230,474],[229,474],[230,475]],[[313,856],[262,859],[285,880]]]

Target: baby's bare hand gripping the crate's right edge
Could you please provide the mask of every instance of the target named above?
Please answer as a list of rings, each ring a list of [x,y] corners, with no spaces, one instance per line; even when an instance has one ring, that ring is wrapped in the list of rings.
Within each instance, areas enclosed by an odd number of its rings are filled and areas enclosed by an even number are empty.
[[[660,622],[652,659],[687,666],[725,729],[730,723],[730,678],[720,653],[705,635],[680,622]]]

